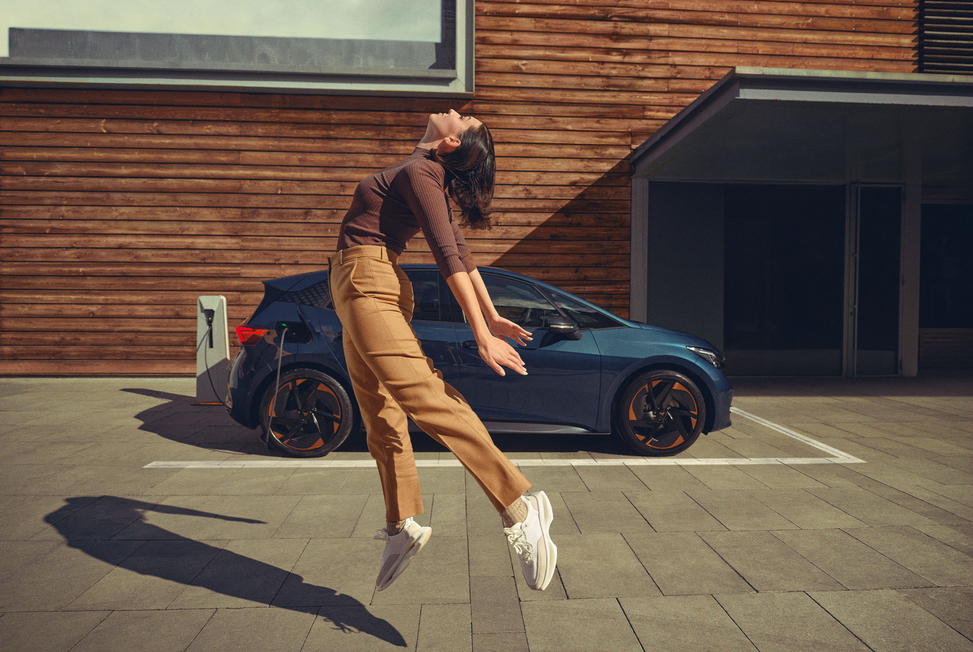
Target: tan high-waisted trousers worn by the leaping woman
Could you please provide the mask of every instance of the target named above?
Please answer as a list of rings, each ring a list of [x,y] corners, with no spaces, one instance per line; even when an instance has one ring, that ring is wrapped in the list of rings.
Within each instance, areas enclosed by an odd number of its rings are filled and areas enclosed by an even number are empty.
[[[422,513],[407,415],[450,449],[497,511],[530,483],[493,444],[480,417],[422,351],[410,321],[413,286],[383,246],[347,247],[329,257],[329,282],[342,321],[344,360],[378,463],[385,518]]]

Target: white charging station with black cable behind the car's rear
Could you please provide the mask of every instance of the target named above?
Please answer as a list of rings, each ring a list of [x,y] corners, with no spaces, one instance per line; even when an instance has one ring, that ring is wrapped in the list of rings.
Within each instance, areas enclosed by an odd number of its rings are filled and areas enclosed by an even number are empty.
[[[230,374],[230,331],[223,295],[198,298],[196,344],[197,405],[222,405]]]

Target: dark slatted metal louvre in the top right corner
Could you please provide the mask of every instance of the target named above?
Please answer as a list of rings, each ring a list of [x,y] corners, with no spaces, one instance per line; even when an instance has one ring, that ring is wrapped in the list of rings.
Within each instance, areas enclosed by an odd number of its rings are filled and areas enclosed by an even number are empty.
[[[919,0],[919,72],[973,75],[973,0]]]

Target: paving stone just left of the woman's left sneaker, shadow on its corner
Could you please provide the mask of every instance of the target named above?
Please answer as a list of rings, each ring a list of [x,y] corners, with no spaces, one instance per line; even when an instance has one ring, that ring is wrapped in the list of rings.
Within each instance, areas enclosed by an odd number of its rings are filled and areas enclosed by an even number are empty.
[[[380,541],[311,539],[273,598],[273,606],[368,604],[375,594],[381,550]]]

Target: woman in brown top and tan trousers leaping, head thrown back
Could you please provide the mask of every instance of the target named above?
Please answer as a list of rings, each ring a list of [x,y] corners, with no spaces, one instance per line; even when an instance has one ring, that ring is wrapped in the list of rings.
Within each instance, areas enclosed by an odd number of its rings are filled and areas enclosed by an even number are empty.
[[[554,575],[558,549],[549,533],[551,502],[543,491],[523,494],[530,483],[423,353],[410,324],[413,287],[396,263],[421,230],[466,313],[480,356],[500,376],[503,367],[525,376],[521,356],[498,336],[523,345],[530,334],[493,307],[447,197],[461,207],[464,226],[488,229],[494,169],[493,140],[483,123],[452,110],[430,115],[412,156],[358,184],[329,258],[345,364],[385,497],[385,527],[376,535],[385,541],[379,591],[399,576],[431,532],[412,518],[422,513],[422,500],[407,416],[449,448],[484,489],[530,588],[544,590]]]

